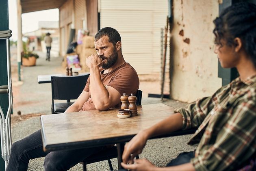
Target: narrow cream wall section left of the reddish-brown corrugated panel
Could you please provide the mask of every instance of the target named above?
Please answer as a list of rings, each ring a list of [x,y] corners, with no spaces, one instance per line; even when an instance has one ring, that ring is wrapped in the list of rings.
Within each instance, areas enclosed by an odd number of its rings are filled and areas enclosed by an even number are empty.
[[[85,0],[75,0],[75,28],[76,34],[78,29],[83,29],[83,20],[85,19]]]

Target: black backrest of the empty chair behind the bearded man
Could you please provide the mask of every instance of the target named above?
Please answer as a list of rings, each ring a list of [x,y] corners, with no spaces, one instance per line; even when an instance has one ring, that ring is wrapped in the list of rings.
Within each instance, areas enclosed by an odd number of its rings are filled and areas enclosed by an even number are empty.
[[[51,77],[52,101],[77,99],[85,88],[87,75]]]

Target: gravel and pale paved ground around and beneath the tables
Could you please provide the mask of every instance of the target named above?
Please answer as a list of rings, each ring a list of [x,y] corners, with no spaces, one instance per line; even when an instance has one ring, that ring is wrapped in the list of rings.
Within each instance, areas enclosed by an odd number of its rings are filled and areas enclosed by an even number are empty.
[[[38,114],[50,114],[51,104],[51,85],[38,84],[37,75],[65,73],[61,68],[62,58],[52,58],[50,62],[45,61],[44,54],[39,53],[37,66],[23,67],[22,82],[17,81],[17,70],[15,63],[13,66],[13,117],[17,116],[17,111],[22,115],[36,113],[32,117],[17,119],[12,124],[12,140],[18,141],[41,128]],[[12,60],[15,61],[15,60]],[[15,73],[16,72],[16,73]],[[16,76],[16,77],[15,77]],[[148,93],[160,93],[160,82],[158,76],[139,76],[140,89],[143,91],[142,104],[164,103],[169,106],[181,107],[186,103],[175,100],[163,100],[159,98],[149,98]],[[191,135],[176,136],[164,139],[149,140],[140,158],[147,158],[154,165],[163,167],[172,158],[181,152],[188,152],[195,149],[187,145]],[[43,171],[44,158],[31,160],[28,171]],[[113,168],[117,169],[117,159],[111,159]],[[82,165],[78,164],[70,171],[81,171]],[[107,161],[97,162],[87,165],[87,171],[106,171],[109,170]]]

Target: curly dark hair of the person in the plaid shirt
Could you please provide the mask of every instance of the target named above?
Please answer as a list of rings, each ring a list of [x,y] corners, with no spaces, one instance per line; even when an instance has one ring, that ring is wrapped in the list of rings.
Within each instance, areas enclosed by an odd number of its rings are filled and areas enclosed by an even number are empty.
[[[256,67],[256,5],[248,2],[236,3],[226,8],[213,23],[215,28],[215,44],[235,45],[234,39],[239,37],[247,55]]]

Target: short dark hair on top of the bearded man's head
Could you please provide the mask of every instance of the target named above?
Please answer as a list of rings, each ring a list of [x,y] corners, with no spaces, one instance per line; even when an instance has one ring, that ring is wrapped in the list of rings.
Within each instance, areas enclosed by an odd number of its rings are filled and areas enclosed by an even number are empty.
[[[94,37],[94,41],[98,41],[103,36],[107,36],[108,41],[111,42],[114,46],[118,41],[121,41],[121,36],[119,35],[119,32],[117,32],[117,30],[115,30],[115,28],[105,27],[105,28],[100,29],[96,33],[96,35]]]

